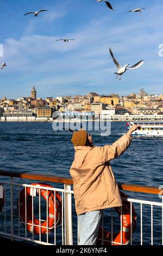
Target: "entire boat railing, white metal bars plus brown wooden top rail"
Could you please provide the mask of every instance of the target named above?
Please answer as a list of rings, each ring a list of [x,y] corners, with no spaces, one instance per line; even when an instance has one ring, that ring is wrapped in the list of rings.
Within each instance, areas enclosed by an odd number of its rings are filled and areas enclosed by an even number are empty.
[[[1,211],[0,235],[12,240],[24,240],[29,243],[42,245],[77,245],[78,244],[78,218],[74,208],[73,181],[70,178],[32,173],[9,172],[0,170],[0,202],[3,200]],[[46,182],[46,183],[45,183]],[[51,186],[46,186],[46,184]],[[27,184],[28,183],[28,184]],[[33,184],[34,183],[34,184]],[[32,185],[33,184],[33,185]],[[101,245],[163,245],[163,186],[152,187],[133,184],[118,184],[121,191],[127,191],[127,198],[123,202],[130,205],[130,226],[133,227],[133,206],[136,212],[136,227],[129,230],[129,239],[124,242],[125,216],[121,207],[120,218],[115,216],[114,210],[103,211],[102,236],[98,238]],[[23,214],[22,218],[22,195]],[[49,192],[60,194],[60,223],[57,224],[57,201],[54,200],[54,223],[49,227],[49,202],[43,199],[41,191],[48,198]],[[30,206],[27,202],[27,193],[30,197]],[[147,195],[149,200],[147,200]],[[154,200],[151,200],[154,197]],[[30,207],[30,212],[29,208]],[[29,221],[30,215],[30,221]],[[37,221],[36,221],[37,220]],[[46,225],[42,226],[42,223]],[[34,230],[37,230],[37,233]],[[110,240],[105,239],[104,229],[110,230]],[[119,230],[120,241],[115,240]],[[116,230],[116,232],[115,232]]]

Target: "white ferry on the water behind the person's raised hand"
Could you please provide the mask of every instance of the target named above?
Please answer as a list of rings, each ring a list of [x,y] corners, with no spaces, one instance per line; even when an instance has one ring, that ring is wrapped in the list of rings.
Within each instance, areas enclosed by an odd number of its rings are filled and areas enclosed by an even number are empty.
[[[140,122],[130,122],[127,123],[129,126],[128,129],[131,128],[134,124],[140,124],[140,129],[134,131],[132,135],[144,135],[144,136],[163,136],[163,122],[151,122],[151,123],[140,123]]]

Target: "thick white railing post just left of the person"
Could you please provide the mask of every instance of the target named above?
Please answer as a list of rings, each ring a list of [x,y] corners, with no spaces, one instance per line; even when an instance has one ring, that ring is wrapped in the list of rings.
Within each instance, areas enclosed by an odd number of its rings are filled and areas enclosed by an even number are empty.
[[[72,245],[72,197],[71,185],[64,185],[65,188],[65,245]]]

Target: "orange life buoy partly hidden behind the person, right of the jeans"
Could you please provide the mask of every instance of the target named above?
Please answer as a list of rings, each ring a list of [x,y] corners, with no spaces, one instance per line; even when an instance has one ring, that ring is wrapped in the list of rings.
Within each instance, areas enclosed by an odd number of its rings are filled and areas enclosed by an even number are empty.
[[[128,198],[126,194],[120,191],[121,197]],[[114,208],[119,217],[121,217],[121,207]],[[136,213],[134,206],[132,205],[132,233],[136,227]],[[130,202],[122,201],[122,243],[123,245],[127,245],[130,241],[130,234],[131,234],[131,216],[130,216]],[[111,245],[111,232],[104,230],[101,226],[99,226],[98,237],[97,237],[97,244],[100,243],[103,239],[104,245]],[[112,245],[121,245],[121,230],[112,234]]]

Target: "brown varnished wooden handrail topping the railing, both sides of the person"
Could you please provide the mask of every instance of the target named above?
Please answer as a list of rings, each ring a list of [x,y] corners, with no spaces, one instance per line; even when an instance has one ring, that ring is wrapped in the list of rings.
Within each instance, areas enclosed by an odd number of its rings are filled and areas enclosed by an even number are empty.
[[[62,176],[21,173],[21,172],[17,173],[17,172],[11,172],[8,170],[1,170],[1,169],[0,169],[0,175],[1,176],[9,176],[9,177],[13,177],[13,178],[28,179],[28,180],[30,179],[30,180],[58,182],[58,183],[64,183],[64,184],[68,184],[68,185],[73,184],[73,180],[71,178],[65,178]],[[158,187],[152,187],[152,186],[118,183],[118,187],[120,188],[120,190],[126,190],[126,191],[133,191],[133,192],[140,192],[140,193],[151,193],[151,194],[159,194],[160,193],[160,190]]]

